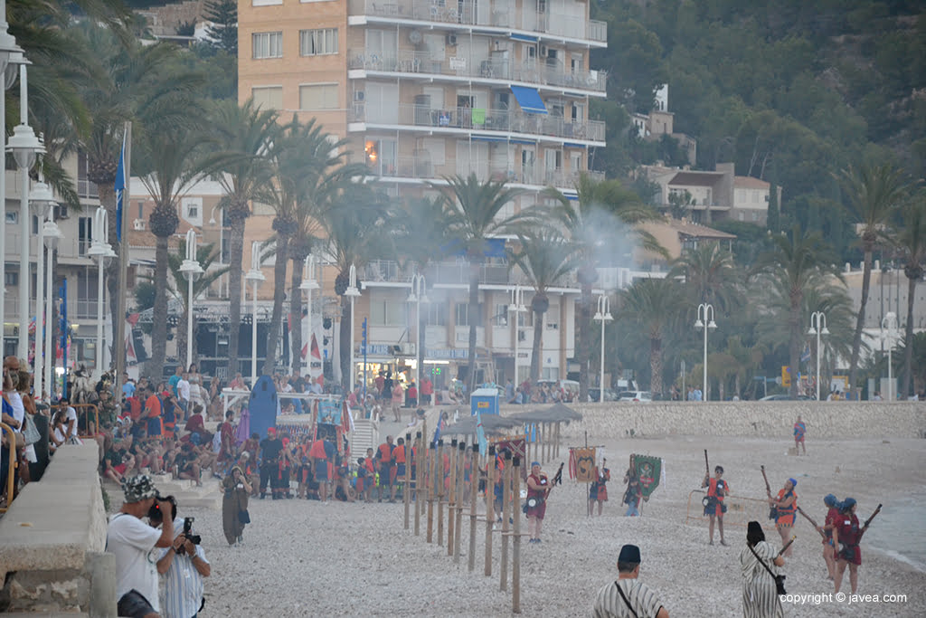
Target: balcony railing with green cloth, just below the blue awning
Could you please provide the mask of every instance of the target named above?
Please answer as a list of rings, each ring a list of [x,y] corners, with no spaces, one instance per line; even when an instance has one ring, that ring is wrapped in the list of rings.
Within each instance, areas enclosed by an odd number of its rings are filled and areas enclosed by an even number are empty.
[[[433,129],[466,129],[550,135],[567,140],[605,141],[605,123],[601,120],[573,121],[552,114],[526,114],[508,109],[452,107],[432,109],[423,105],[369,105],[356,102],[350,121],[390,124]]]

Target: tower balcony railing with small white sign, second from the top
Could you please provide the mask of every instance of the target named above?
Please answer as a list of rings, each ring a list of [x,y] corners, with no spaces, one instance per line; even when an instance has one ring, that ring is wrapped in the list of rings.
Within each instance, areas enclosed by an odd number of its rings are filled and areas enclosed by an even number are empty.
[[[422,73],[450,77],[476,77],[516,82],[540,83],[557,88],[576,88],[603,93],[607,89],[606,71],[567,71],[539,62],[514,62],[501,59],[457,58],[451,68],[449,59],[435,59],[430,52],[400,50],[398,53],[350,50],[350,69],[377,70],[391,73]]]

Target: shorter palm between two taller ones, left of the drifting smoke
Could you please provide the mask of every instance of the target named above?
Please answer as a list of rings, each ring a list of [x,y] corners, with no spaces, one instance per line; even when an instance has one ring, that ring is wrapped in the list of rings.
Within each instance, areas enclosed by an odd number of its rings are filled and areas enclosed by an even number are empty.
[[[511,264],[519,266],[533,287],[531,383],[536,384],[540,379],[540,361],[544,352],[544,314],[550,308],[547,292],[575,268],[578,256],[575,246],[563,238],[562,234],[549,228],[521,232],[518,241],[518,248],[509,250],[508,256]],[[515,376],[517,379],[518,376]]]

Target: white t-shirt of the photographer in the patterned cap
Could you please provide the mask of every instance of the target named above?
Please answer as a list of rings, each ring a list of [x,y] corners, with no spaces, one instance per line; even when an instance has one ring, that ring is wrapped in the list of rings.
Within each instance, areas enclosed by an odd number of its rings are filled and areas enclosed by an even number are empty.
[[[157,559],[155,549],[161,531],[152,528],[134,515],[116,513],[106,529],[106,551],[116,556],[116,598],[132,589],[138,590],[151,603],[155,612],[157,602]]]

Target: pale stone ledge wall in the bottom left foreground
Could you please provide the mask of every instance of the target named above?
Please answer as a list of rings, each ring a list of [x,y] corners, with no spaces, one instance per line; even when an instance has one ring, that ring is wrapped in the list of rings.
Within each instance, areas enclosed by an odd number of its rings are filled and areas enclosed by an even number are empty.
[[[60,448],[0,519],[0,612],[116,615],[95,442]]]

